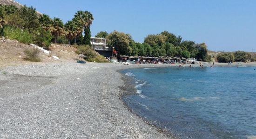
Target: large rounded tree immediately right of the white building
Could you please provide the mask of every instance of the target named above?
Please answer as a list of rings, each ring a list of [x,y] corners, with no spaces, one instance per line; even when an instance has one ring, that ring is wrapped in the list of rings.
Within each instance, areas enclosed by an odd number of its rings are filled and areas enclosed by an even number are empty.
[[[117,50],[118,57],[120,57],[120,55],[126,54],[130,41],[127,34],[123,32],[113,31],[108,34],[107,39],[108,44],[115,47],[115,49]]]

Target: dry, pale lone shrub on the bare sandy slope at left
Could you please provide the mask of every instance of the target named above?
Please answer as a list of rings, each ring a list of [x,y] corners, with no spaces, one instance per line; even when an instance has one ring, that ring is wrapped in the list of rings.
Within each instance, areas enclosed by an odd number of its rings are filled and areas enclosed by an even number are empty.
[[[24,51],[24,53],[26,54],[26,58],[24,58],[27,61],[33,61],[33,62],[40,62],[41,59],[39,57],[40,54],[40,50],[37,48],[33,48],[33,49],[26,49]]]

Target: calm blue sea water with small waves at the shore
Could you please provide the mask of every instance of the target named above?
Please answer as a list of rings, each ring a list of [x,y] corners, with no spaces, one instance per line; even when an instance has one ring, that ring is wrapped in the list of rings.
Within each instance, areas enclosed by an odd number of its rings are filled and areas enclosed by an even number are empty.
[[[255,67],[125,69],[137,93],[135,113],[183,139],[256,136]]]

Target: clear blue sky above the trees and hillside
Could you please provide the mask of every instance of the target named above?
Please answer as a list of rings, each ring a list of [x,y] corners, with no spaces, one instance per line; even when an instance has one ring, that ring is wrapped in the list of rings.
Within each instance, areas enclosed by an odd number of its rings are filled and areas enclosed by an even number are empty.
[[[114,30],[143,42],[164,30],[213,51],[256,51],[256,0],[16,0],[64,22],[94,15],[92,36]]]

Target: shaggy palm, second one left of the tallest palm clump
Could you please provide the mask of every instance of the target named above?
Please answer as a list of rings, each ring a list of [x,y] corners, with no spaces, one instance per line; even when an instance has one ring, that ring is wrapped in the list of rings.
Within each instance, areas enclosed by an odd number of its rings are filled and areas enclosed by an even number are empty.
[[[63,31],[63,22],[59,18],[54,18],[53,26],[51,27],[51,34],[54,36],[54,43],[57,43],[57,38],[61,36]]]

